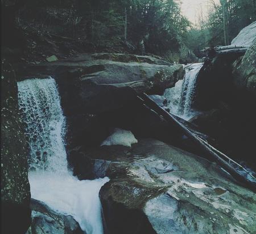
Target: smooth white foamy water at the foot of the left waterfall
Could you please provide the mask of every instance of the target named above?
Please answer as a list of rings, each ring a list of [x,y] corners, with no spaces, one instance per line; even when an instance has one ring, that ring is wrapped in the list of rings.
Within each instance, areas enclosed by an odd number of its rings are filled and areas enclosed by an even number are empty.
[[[98,193],[109,178],[78,180],[71,175],[30,172],[31,196],[53,210],[72,215],[85,233],[104,233]]]

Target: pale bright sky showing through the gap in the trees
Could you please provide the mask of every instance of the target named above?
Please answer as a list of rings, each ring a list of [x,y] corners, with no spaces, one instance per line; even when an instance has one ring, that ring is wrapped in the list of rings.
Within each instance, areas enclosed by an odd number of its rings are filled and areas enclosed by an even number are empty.
[[[220,3],[220,0],[181,0],[181,11],[192,23],[196,23],[199,9],[202,7],[203,14],[207,15],[211,1]]]

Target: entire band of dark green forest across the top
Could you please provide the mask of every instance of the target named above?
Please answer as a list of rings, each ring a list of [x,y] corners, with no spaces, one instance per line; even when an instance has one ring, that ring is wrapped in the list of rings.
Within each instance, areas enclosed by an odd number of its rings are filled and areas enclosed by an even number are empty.
[[[69,37],[87,52],[148,53],[179,62],[202,57],[205,47],[228,45],[255,21],[255,7],[255,0],[209,1],[207,15],[198,9],[196,24],[181,14],[181,2],[175,0],[27,0],[15,1],[6,12],[15,14],[23,31]],[[6,14],[7,19],[13,15]],[[14,40],[2,37],[3,43]]]

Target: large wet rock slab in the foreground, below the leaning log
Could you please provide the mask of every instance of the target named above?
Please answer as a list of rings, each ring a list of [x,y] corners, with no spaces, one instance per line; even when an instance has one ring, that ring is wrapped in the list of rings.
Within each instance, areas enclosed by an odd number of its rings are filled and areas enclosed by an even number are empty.
[[[103,146],[85,156],[96,158],[95,172],[104,168],[111,179],[100,191],[108,233],[253,233],[256,228],[256,195],[208,160],[153,139],[140,139],[131,148]]]

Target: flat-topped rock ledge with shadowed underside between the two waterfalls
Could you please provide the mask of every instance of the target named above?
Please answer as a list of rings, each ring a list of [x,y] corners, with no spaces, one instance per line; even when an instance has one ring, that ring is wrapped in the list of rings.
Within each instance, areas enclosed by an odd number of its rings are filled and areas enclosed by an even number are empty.
[[[21,67],[18,74],[22,79],[46,75],[56,79],[67,117],[68,147],[74,148],[98,145],[113,126],[132,125],[143,133],[150,118],[143,119],[137,95],[163,93],[183,78],[184,69],[155,57],[95,53]]]

